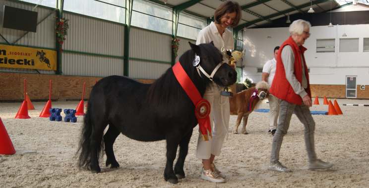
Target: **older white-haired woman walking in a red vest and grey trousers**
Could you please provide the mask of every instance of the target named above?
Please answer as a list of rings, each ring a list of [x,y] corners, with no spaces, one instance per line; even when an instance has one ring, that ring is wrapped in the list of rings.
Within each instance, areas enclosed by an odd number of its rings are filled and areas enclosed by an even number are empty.
[[[333,164],[317,159],[314,149],[315,122],[311,116],[311,94],[309,86],[308,68],[304,52],[307,48],[302,45],[310,37],[310,23],[304,20],[294,21],[290,28],[290,37],[278,51],[277,70],[275,72],[270,94],[279,99],[279,122],[273,138],[272,151],[268,170],[291,172],[279,162],[279,151],[283,137],[290,127],[292,114],[295,112],[301,123],[304,124],[305,143],[308,151],[308,169],[328,169]]]

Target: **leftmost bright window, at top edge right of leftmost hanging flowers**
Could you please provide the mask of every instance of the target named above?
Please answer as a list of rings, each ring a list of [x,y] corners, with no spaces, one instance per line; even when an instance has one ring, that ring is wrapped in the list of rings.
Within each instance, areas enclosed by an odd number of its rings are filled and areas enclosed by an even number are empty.
[[[100,2],[108,1],[108,2]],[[64,0],[64,10],[113,22],[125,23],[125,0]],[[108,4],[109,3],[109,4]]]

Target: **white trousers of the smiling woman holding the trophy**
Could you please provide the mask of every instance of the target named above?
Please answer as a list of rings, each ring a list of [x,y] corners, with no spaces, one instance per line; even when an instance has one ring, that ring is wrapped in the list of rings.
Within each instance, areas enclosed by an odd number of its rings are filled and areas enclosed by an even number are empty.
[[[229,98],[228,96],[220,95],[220,92],[223,90],[224,87],[218,87],[213,83],[212,89],[206,90],[202,97],[210,103],[211,110],[209,117],[213,138],[209,136],[209,141],[203,141],[199,130],[196,148],[196,158],[198,159],[210,159],[210,154],[215,156],[220,155],[223,141],[227,135],[230,118]]]

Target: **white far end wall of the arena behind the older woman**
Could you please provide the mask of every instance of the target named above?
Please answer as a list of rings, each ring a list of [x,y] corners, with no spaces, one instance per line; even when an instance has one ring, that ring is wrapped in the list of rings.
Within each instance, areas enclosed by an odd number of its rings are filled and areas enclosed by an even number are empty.
[[[281,46],[289,37],[289,28],[247,29],[244,31],[246,55],[243,64],[243,79],[248,77],[256,83],[261,81],[262,68],[273,58],[273,49]],[[310,28],[311,36],[303,45],[308,48],[305,58],[310,69],[310,84],[345,85],[346,76],[357,76],[357,85],[369,85],[369,52],[364,52],[363,38],[369,38],[368,25],[315,26]],[[342,37],[343,33],[347,37]],[[359,52],[339,52],[340,39],[359,38]],[[335,39],[335,52],[316,52],[316,39]]]

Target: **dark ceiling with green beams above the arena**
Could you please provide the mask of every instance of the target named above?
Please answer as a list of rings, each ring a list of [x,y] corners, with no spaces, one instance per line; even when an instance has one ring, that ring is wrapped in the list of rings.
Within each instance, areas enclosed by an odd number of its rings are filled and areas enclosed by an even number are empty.
[[[151,0],[169,7],[183,9],[184,12],[210,18],[224,0]],[[243,10],[238,28],[264,25],[288,14],[308,14],[310,6],[316,12],[351,5],[353,0],[235,0]],[[361,0],[367,2],[368,0]]]

